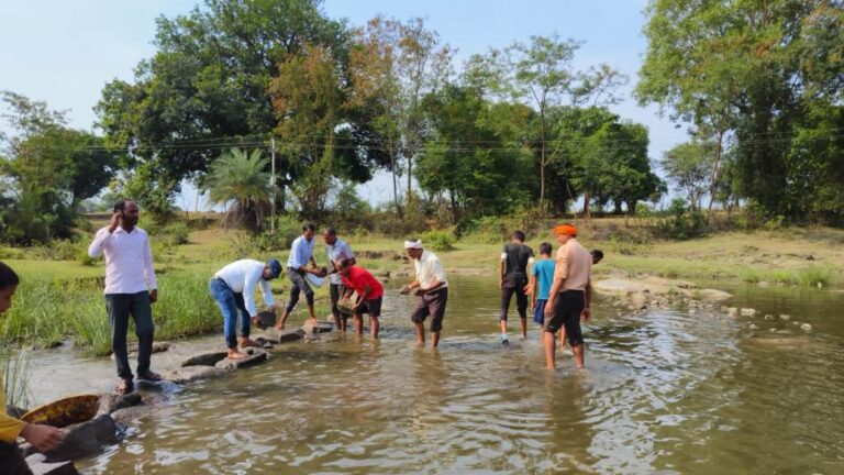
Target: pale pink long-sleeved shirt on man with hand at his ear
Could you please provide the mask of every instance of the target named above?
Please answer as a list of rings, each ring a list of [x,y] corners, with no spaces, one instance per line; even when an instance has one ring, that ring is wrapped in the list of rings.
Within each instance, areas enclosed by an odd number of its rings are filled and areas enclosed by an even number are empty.
[[[88,255],[106,254],[106,294],[137,294],[157,288],[153,270],[153,252],[146,231],[135,228],[126,232],[118,227],[97,231],[88,246]]]

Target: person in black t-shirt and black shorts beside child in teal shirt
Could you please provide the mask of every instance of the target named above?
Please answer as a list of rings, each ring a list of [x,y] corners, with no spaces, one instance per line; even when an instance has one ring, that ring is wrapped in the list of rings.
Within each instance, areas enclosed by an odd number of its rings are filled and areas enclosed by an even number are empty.
[[[498,288],[501,290],[501,310],[498,323],[501,327],[501,344],[510,344],[507,336],[507,313],[510,300],[515,294],[515,308],[522,324],[522,338],[528,338],[528,264],[533,261],[533,250],[524,245],[524,232],[513,231],[510,242],[504,244],[498,263]]]

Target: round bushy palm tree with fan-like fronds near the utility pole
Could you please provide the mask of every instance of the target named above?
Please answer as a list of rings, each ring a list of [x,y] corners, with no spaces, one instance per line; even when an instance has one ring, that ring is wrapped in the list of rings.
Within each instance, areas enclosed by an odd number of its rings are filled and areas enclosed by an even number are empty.
[[[204,183],[212,202],[227,205],[235,201],[244,213],[254,210],[258,230],[264,225],[262,205],[268,203],[273,194],[269,174],[265,172],[268,159],[260,155],[260,150],[247,153],[232,148],[211,164]],[[230,212],[226,211],[226,221]]]

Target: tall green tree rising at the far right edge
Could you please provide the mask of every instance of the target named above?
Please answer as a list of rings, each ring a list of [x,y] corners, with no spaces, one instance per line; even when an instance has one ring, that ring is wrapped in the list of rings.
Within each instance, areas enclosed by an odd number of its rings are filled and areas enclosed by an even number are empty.
[[[788,150],[807,111],[842,97],[844,5],[828,0],[653,0],[636,93],[714,140],[710,194],[723,140],[734,136],[738,192],[790,213]],[[829,139],[829,137],[828,137]]]

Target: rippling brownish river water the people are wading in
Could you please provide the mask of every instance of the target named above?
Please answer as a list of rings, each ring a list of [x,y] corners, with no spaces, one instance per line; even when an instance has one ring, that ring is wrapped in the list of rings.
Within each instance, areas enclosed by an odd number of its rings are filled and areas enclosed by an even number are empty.
[[[262,366],[170,388],[165,410],[78,465],[89,474],[844,473],[844,294],[720,286],[735,295],[729,306],[756,308],[753,318],[718,306],[631,313],[599,297],[585,329],[587,369],[565,352],[548,372],[532,321],[526,341],[498,345],[491,279],[451,281],[437,352],[414,346],[412,300],[390,289],[379,342],[347,334],[280,345]],[[156,354],[154,365],[177,356]],[[35,363],[47,389],[114,383],[109,360],[54,352]]]

